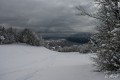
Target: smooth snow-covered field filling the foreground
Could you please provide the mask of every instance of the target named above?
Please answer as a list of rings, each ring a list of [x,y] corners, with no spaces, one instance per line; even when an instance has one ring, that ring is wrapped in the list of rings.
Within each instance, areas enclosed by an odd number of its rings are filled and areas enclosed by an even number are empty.
[[[120,80],[94,72],[90,56],[23,44],[0,45],[0,80]]]

